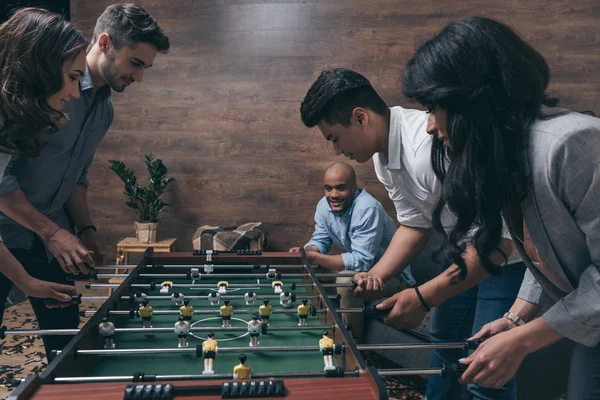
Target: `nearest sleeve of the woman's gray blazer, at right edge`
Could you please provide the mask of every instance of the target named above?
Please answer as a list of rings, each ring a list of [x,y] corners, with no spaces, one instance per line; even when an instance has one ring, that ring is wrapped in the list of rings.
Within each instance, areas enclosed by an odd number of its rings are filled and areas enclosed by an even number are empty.
[[[560,335],[585,346],[600,344],[600,141],[593,137],[595,130],[578,132],[552,157],[554,190],[585,235],[591,263],[577,288],[543,315]]]

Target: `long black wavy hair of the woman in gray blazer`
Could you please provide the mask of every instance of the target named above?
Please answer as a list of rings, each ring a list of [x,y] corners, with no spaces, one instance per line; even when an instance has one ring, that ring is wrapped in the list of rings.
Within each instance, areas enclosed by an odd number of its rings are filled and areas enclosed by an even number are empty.
[[[422,105],[447,110],[451,150],[434,140],[433,169],[442,182],[433,225],[442,230],[446,205],[457,223],[436,252],[466,276],[459,243],[475,224],[473,246],[483,268],[498,275],[490,253],[500,243],[502,216],[510,216],[528,191],[524,152],[529,126],[542,104],[550,69],[544,57],[508,26],[481,17],[448,24],[424,43],[404,71],[404,94]],[[506,255],[505,255],[506,257]]]

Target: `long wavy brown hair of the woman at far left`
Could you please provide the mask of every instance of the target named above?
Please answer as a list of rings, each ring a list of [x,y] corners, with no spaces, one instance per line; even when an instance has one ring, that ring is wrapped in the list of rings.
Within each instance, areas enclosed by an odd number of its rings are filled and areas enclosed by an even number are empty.
[[[23,8],[0,25],[0,146],[36,157],[40,135],[56,132],[66,115],[48,105],[63,86],[63,67],[87,40],[61,15]]]

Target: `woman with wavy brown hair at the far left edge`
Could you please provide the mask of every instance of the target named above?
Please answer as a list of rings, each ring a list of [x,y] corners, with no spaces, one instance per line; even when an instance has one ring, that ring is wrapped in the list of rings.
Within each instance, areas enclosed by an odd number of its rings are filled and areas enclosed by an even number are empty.
[[[87,44],[71,23],[43,9],[20,9],[0,25],[0,176],[14,155],[37,157],[40,136],[66,121],[62,110],[79,97]],[[77,293],[30,276],[1,238],[0,272],[28,296],[69,301]]]

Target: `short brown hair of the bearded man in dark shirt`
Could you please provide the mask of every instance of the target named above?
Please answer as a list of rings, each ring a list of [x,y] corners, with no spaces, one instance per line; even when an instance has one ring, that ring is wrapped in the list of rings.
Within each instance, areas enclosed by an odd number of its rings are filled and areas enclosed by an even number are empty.
[[[167,54],[171,47],[156,20],[142,7],[131,3],[113,4],[104,10],[96,22],[92,44],[105,32],[117,50],[146,42],[154,45],[159,53]]]

